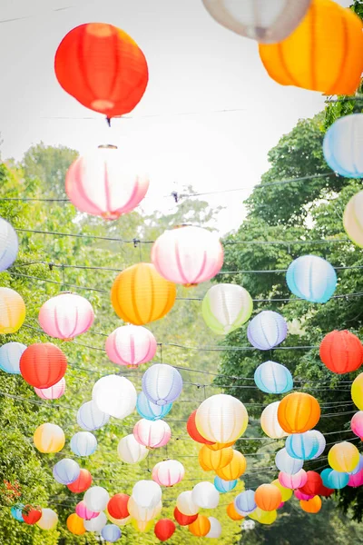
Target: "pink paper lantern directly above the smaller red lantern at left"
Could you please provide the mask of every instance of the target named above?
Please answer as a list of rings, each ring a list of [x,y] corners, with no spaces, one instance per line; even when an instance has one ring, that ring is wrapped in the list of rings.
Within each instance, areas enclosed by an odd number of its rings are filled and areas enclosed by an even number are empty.
[[[51,337],[72,341],[90,329],[94,312],[91,303],[81,295],[63,292],[44,302],[38,320]]]

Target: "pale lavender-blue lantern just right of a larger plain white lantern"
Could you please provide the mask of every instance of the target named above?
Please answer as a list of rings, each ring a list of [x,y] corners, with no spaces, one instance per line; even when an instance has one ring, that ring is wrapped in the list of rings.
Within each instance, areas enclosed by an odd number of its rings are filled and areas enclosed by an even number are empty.
[[[168,405],[182,393],[182,375],[165,363],[155,363],[142,375],[142,391],[155,405]]]

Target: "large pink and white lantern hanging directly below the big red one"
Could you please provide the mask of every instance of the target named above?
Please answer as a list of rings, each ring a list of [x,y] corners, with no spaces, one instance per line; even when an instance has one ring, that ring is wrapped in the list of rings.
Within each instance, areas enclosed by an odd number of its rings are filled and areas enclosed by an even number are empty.
[[[149,179],[138,176],[129,158],[116,146],[100,146],[78,157],[65,176],[65,192],[81,212],[116,220],[132,212],[149,188]]]

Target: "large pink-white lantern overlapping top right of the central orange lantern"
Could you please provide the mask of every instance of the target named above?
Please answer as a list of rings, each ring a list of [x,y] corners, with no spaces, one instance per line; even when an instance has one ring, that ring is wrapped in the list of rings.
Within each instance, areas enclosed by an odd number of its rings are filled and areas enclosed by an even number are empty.
[[[165,231],[153,243],[152,263],[167,280],[195,286],[220,272],[223,248],[216,233],[184,226]]]

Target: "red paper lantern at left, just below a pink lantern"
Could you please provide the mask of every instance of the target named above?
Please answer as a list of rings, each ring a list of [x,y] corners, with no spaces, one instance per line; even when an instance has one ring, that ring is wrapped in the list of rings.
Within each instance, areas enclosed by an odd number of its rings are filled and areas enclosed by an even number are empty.
[[[20,372],[34,388],[50,388],[67,370],[64,352],[51,342],[36,342],[26,348],[20,358]]]

